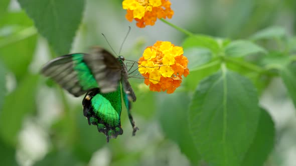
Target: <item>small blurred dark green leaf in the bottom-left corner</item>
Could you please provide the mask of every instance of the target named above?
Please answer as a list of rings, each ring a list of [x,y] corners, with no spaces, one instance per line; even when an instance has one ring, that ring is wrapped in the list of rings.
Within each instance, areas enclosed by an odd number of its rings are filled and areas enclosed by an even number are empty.
[[[8,144],[5,144],[4,141],[0,138],[0,165],[18,165],[16,161],[16,149]]]

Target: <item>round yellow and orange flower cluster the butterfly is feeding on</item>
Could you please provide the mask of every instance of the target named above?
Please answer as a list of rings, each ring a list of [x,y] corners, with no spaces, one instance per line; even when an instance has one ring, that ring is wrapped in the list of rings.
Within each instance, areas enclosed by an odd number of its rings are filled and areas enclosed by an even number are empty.
[[[139,58],[138,70],[145,77],[144,83],[152,91],[173,93],[182,82],[182,75],[187,76],[188,59],[183,55],[183,48],[169,41],[157,41],[148,46]]]

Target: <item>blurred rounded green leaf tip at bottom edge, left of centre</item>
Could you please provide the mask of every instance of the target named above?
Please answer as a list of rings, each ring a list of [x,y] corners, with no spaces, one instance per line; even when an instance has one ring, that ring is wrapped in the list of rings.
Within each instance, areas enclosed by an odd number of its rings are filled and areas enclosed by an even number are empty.
[[[68,151],[51,152],[42,160],[36,162],[34,166],[64,166],[64,165],[81,165],[77,159]]]

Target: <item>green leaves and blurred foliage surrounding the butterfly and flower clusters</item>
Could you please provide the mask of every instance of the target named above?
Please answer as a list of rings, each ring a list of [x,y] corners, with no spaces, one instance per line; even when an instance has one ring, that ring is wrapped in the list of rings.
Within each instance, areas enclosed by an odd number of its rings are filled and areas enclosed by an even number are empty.
[[[123,110],[124,133],[107,144],[83,116],[82,98],[40,76],[40,67],[57,55],[107,46],[103,26],[113,41],[121,41],[116,34],[127,25],[147,40],[152,33],[161,40],[162,22],[137,29],[125,20],[121,0],[18,0],[20,8],[1,0],[0,165],[286,165],[278,149],[287,145],[275,138],[295,134],[295,126],[276,128],[276,117],[258,100],[281,78],[285,99],[296,105],[296,1],[171,2],[172,22],[181,26],[186,17],[190,22],[182,27],[196,33],[170,34],[182,44],[190,74],[173,94],[151,92],[142,79],[130,78],[140,130],[131,136]],[[184,3],[194,12],[174,19]],[[138,59],[149,45],[130,43],[126,57]],[[31,133],[28,121],[41,128],[29,140],[23,134]]]

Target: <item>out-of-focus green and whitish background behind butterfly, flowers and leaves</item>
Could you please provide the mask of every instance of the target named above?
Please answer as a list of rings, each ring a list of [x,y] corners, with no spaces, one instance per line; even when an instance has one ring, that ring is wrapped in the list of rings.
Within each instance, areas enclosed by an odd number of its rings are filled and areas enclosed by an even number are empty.
[[[175,13],[169,21],[194,33],[237,39],[269,26],[281,26],[289,35],[296,32],[295,0],[171,2]],[[126,59],[137,60],[157,40],[182,45],[186,35],[160,20],[145,28],[127,21],[121,3],[86,0],[70,52],[87,52],[92,45],[111,51],[104,33],[117,53],[128,26],[131,31],[120,53]],[[10,17],[2,16],[2,9],[8,9]],[[76,98],[40,75],[42,65],[54,56],[16,0],[0,8],[0,62],[8,72],[0,80],[6,84],[0,101],[0,165],[206,165],[199,161],[188,130],[191,92],[182,87],[173,94],[151,92],[143,79],[130,78],[137,95],[132,114],[140,130],[131,136],[123,108],[124,133],[106,143],[105,135],[83,116],[83,96]],[[274,149],[265,165],[296,165],[295,108],[280,79],[270,81],[260,104],[276,127]]]

